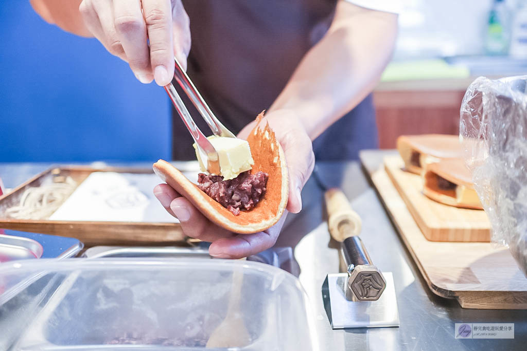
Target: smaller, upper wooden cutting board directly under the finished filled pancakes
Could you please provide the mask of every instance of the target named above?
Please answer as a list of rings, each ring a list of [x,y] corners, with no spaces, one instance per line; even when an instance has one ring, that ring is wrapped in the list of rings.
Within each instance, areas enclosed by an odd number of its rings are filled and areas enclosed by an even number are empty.
[[[384,158],[392,179],[423,235],[437,242],[490,242],[491,224],[483,210],[457,208],[423,195],[423,178],[405,172],[399,155]]]

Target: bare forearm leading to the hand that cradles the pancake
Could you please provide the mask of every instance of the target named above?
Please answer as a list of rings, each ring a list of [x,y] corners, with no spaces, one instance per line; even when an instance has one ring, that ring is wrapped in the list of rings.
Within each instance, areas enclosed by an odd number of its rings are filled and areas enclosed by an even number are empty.
[[[315,139],[373,90],[396,35],[397,15],[339,2],[328,32],[302,59],[270,111],[292,109]]]

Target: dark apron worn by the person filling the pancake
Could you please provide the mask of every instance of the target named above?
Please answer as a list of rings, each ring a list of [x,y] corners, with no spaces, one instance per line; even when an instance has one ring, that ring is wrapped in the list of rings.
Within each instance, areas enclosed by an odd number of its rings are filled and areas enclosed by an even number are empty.
[[[324,36],[336,0],[188,0],[192,49],[188,74],[212,112],[233,133],[267,109],[306,52]],[[194,120],[209,135],[183,95]],[[190,134],[173,110],[173,159],[194,159]],[[356,159],[377,147],[372,98],[339,119],[313,143],[319,160]]]

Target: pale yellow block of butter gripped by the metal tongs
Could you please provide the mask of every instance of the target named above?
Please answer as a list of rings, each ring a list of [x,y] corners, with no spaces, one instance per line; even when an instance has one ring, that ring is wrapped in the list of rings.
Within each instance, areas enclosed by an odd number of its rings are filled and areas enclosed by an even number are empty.
[[[255,162],[251,156],[251,149],[246,140],[238,138],[227,138],[223,136],[209,136],[212,146],[216,149],[220,164],[220,174],[224,180],[236,178],[240,173],[249,171]],[[201,172],[207,172],[207,167],[203,165],[196,144],[196,149]]]

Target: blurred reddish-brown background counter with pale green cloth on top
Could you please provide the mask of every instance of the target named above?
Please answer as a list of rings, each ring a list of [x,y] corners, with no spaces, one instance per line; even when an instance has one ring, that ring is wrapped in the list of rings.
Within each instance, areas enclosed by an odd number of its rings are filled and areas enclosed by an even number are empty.
[[[458,134],[461,101],[476,77],[522,74],[527,74],[527,60],[507,56],[391,63],[374,91],[379,147],[394,148],[402,134]]]

